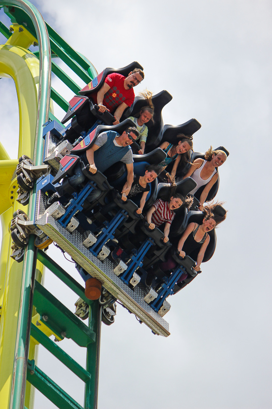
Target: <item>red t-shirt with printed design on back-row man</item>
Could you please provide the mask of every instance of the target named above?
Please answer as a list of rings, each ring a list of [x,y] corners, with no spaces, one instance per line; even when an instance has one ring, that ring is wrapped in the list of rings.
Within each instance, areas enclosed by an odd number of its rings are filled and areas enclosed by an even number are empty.
[[[115,111],[123,102],[127,104],[128,107],[131,107],[134,102],[135,94],[133,88],[124,88],[125,78],[124,75],[113,72],[105,79],[105,84],[108,84],[110,89],[104,95],[103,105],[108,108],[110,112]],[[94,92],[90,96],[94,103],[97,104],[97,92]]]

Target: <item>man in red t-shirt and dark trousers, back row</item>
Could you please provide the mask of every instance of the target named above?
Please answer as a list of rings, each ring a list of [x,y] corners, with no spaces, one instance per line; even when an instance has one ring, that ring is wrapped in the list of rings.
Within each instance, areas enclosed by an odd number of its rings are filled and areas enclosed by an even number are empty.
[[[113,72],[106,77],[99,91],[90,94],[90,98],[99,106],[100,113],[105,111],[112,113],[115,117],[113,125],[116,125],[119,123],[125,109],[132,106],[135,99],[133,87],[136,87],[143,78],[144,73],[139,68],[135,68],[127,77]],[[70,143],[76,140],[80,132],[91,129],[96,121],[88,104],[76,115],[75,123],[73,123],[73,119],[71,127],[66,131],[66,139]]]

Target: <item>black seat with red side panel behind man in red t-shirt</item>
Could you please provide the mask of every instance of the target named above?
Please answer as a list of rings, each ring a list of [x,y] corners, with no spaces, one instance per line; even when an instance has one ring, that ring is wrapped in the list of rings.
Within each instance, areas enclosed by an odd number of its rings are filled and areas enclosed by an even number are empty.
[[[100,72],[97,77],[93,78],[93,80],[89,82],[89,84],[87,84],[81,91],[79,91],[79,94],[81,96],[75,95],[71,99],[71,101],[69,101],[69,109],[65,117],[62,119],[61,123],[65,123],[74,115],[77,115],[77,112],[79,112],[83,108],[83,106],[88,104],[91,93],[94,91],[96,92],[101,88],[107,75],[112,74],[113,72],[117,72],[118,74],[128,76],[129,73],[135,68],[143,69],[142,66],[136,61],[123,68],[105,68],[104,71]]]

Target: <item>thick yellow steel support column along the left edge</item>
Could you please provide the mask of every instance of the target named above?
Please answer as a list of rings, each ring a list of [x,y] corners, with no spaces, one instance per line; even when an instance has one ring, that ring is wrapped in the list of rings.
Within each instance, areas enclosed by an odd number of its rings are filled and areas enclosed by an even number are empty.
[[[23,154],[33,157],[38,91],[39,91],[39,59],[26,50],[35,38],[25,29],[19,31],[14,25],[14,33],[5,45],[0,46],[0,77],[12,78],[15,82],[19,106],[19,149],[18,157]],[[14,95],[14,100],[16,96]],[[12,126],[12,124],[10,124]],[[15,169],[18,161],[10,160],[4,147],[0,145],[0,220],[2,226],[2,245],[0,252],[0,408],[8,409],[16,332],[18,325],[18,309],[21,293],[23,263],[10,258],[11,238],[8,226],[12,213],[22,208],[15,200],[17,183]],[[15,188],[14,188],[15,186]],[[14,194],[14,195],[13,195]],[[42,279],[43,265],[38,262],[36,276]],[[36,345],[30,341],[29,358],[36,356]],[[27,383],[25,405],[32,408],[34,388]]]

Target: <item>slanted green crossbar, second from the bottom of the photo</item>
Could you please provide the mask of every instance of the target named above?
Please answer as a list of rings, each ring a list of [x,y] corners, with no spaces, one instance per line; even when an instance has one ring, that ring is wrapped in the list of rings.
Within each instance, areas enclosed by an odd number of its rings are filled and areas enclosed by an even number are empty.
[[[77,375],[84,382],[90,380],[91,375],[86,371],[79,363],[71,358],[68,353],[59,348],[50,338],[48,338],[42,331],[35,325],[31,324],[31,336],[35,338],[40,344],[42,344],[47,351],[51,352],[57,359],[59,359],[64,365],[67,366],[75,375]]]

